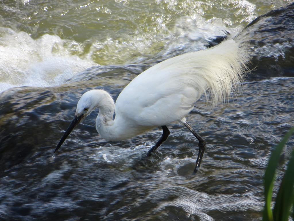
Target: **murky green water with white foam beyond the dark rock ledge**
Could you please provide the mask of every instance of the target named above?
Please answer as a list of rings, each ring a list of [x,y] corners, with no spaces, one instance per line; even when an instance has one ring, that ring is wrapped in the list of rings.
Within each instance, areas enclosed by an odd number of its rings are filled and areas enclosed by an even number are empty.
[[[94,65],[204,49],[287,1],[2,1],[0,91],[56,86]]]

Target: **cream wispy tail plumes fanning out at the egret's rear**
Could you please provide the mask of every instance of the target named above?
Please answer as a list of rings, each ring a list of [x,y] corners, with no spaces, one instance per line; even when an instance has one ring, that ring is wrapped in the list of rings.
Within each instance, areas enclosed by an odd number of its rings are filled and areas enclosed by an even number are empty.
[[[229,39],[207,50],[173,57],[164,65],[161,62],[160,69],[177,75],[174,80],[178,85],[182,82],[194,87],[199,97],[204,93],[206,100],[216,106],[227,100],[244,80],[249,57],[244,43]]]

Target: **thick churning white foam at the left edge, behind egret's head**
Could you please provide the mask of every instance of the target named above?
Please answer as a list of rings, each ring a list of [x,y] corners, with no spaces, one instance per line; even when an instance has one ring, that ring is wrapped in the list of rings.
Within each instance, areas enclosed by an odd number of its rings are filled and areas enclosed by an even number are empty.
[[[60,85],[96,65],[72,55],[73,44],[79,43],[49,34],[32,39],[25,32],[0,28],[0,92],[19,86]]]

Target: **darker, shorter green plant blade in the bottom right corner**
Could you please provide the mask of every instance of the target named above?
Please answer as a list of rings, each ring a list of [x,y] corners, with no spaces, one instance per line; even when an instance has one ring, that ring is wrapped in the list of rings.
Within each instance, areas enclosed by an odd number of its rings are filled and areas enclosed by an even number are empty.
[[[288,221],[294,201],[294,149],[287,170],[282,179],[273,209],[274,220]]]

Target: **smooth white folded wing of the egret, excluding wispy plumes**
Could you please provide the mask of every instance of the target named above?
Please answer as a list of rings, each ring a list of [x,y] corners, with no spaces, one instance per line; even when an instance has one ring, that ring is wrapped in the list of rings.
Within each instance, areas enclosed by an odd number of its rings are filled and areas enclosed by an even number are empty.
[[[174,75],[174,70],[161,71],[149,75],[151,68],[138,75],[116,100],[116,114],[142,126],[167,125],[186,116],[198,100],[198,90],[186,84],[186,78]]]

